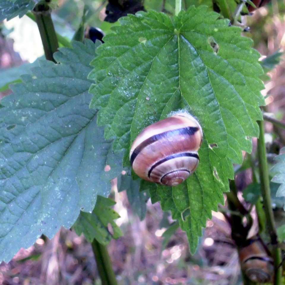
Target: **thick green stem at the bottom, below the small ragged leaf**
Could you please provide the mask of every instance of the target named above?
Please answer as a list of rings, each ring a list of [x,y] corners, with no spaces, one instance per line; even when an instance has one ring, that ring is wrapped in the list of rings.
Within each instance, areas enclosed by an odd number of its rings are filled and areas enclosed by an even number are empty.
[[[96,259],[96,264],[102,285],[117,285],[116,276],[112,268],[112,263],[107,251],[107,247],[94,239],[92,242],[92,249]]]

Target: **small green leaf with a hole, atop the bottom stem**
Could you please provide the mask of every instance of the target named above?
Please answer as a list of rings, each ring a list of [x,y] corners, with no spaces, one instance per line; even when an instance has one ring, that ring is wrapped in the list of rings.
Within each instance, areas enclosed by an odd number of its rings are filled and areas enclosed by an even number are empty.
[[[121,229],[114,222],[115,219],[120,218],[120,215],[111,208],[115,204],[116,202],[111,199],[98,196],[92,213],[80,212],[73,225],[77,235],[83,233],[90,243],[95,238],[103,245],[107,245],[112,238],[117,239],[123,236]],[[112,227],[111,232],[110,226]]]

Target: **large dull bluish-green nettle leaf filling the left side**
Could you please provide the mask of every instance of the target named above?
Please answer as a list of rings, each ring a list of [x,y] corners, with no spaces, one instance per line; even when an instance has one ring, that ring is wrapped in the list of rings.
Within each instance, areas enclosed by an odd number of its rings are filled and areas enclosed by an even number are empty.
[[[41,234],[71,227],[110,193],[122,156],[89,109],[89,63],[96,46],[73,42],[39,61],[0,108],[0,260],[9,261]],[[106,164],[110,165],[105,172]]]

